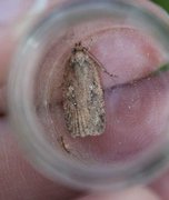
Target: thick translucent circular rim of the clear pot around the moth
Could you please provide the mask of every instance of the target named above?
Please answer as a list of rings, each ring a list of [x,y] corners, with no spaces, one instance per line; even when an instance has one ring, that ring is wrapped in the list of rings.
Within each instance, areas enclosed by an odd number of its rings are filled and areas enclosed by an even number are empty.
[[[56,9],[38,22],[20,43],[11,67],[8,86],[11,124],[32,164],[51,179],[57,180],[60,178],[61,181],[82,189],[121,188],[135,182],[150,181],[161,171],[159,169],[163,169],[168,163],[168,153],[161,152],[157,158],[149,160],[143,158],[128,167],[113,169],[86,168],[71,160],[63,159],[49,147],[42,137],[39,137],[39,132],[42,133],[43,130],[38,126],[37,117],[33,114],[33,86],[31,80],[34,74],[34,63],[40,54],[33,57],[33,53],[40,42],[44,44],[43,40],[50,28],[57,24],[57,29],[61,29],[62,26],[68,23],[69,26],[79,23],[81,20],[90,20],[100,14],[102,17],[115,17],[128,13],[130,13],[128,20],[133,21],[133,23],[137,19],[140,19],[142,27],[151,24],[150,29],[157,30],[157,37],[161,39],[166,50],[169,51],[169,26],[153,13],[147,11],[141,4],[123,0],[72,2],[61,9]],[[38,39],[39,43],[37,42]],[[30,63],[26,64],[23,69],[23,63],[30,57],[30,50],[33,58],[31,57]],[[21,104],[18,104],[18,102]],[[163,152],[166,151],[167,148],[165,147]],[[148,172],[149,176],[147,176]]]

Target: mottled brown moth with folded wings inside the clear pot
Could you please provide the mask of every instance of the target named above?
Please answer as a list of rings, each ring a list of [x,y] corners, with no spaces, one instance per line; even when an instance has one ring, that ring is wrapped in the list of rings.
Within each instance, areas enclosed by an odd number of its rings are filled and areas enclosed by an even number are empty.
[[[79,42],[67,62],[63,83],[63,112],[71,137],[99,136],[106,129],[100,63]]]

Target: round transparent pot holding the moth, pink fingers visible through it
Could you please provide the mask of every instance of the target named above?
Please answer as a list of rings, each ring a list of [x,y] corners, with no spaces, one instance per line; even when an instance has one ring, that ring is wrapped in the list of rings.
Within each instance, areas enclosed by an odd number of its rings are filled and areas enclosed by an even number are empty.
[[[131,61],[140,56],[130,43],[132,37],[120,49],[125,63],[113,62],[113,50],[110,56],[96,50],[99,41],[108,44],[112,37],[111,49],[119,29],[126,37],[132,31],[141,40],[156,43],[155,60],[159,53],[161,59],[142,72]],[[53,9],[33,26],[20,42],[8,86],[11,126],[30,162],[52,180],[92,190],[148,182],[167,169],[168,36],[167,20],[127,0],[72,2]],[[109,73],[116,74],[100,72],[107,127],[97,137],[72,138],[63,117],[63,73],[79,41]],[[128,58],[122,58],[123,48],[131,52]],[[150,50],[146,53],[149,60]]]

